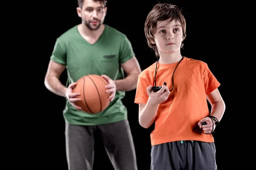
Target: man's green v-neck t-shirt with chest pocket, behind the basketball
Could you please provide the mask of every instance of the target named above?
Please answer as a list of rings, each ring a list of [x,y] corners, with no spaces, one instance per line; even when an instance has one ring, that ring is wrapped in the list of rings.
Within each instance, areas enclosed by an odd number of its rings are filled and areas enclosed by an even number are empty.
[[[125,34],[108,25],[94,44],[81,37],[77,25],[57,38],[50,57],[67,68],[67,84],[89,75],[105,74],[113,80],[125,78],[121,63],[134,57],[131,42]],[[96,114],[78,111],[68,101],[63,115],[66,122],[75,125],[101,125],[127,119],[127,109],[122,103],[124,91],[116,91],[108,108]]]

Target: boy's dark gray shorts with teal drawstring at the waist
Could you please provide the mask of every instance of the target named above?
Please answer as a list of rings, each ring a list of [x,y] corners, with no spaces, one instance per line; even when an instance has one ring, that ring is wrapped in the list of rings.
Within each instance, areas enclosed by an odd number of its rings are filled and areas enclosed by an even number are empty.
[[[154,145],[151,170],[217,170],[215,153],[213,142],[175,141]]]

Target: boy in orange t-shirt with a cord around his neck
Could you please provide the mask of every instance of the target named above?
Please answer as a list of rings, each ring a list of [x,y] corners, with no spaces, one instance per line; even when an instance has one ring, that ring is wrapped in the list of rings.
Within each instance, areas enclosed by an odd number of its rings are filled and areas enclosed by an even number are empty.
[[[177,6],[155,5],[145,21],[145,36],[159,58],[139,75],[134,102],[142,127],[155,122],[151,170],[216,170],[212,132],[225,111],[220,83],[205,62],[180,54],[186,20]]]

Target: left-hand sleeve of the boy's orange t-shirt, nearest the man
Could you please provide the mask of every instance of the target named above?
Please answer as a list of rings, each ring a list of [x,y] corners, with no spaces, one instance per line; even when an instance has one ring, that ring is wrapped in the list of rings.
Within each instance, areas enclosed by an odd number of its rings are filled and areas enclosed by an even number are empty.
[[[146,79],[143,79],[140,76],[138,77],[134,103],[136,103],[136,104],[147,103],[147,101],[148,101],[147,87],[149,85],[150,85],[150,83]]]

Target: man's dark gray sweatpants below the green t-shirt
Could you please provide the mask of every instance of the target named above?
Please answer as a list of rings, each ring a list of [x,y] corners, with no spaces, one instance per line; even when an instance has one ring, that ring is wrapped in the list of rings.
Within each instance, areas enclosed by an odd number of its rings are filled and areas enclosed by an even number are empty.
[[[127,119],[96,126],[66,123],[66,153],[69,170],[93,169],[96,133],[101,136],[115,170],[137,170],[135,148]]]

